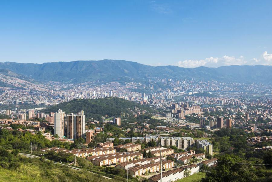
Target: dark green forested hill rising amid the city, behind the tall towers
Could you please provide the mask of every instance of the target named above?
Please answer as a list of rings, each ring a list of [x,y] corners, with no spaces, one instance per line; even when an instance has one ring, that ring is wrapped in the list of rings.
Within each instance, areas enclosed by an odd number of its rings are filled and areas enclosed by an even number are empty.
[[[86,117],[94,117],[94,119],[97,119],[105,114],[108,116],[119,117],[121,112],[132,114],[131,111],[137,110],[152,111],[150,107],[133,101],[128,101],[117,97],[106,97],[99,99],[74,99],[72,101],[63,102],[47,109],[43,109],[40,112],[57,112],[58,109],[62,109],[66,112],[66,114],[71,112],[77,113],[83,110]]]

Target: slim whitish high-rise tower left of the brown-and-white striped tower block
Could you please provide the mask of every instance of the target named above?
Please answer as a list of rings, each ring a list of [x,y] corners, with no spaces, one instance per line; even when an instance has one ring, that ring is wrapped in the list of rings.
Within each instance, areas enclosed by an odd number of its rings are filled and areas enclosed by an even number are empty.
[[[58,112],[54,113],[54,134],[57,134],[59,137],[64,136],[65,128],[65,112],[59,109]]]

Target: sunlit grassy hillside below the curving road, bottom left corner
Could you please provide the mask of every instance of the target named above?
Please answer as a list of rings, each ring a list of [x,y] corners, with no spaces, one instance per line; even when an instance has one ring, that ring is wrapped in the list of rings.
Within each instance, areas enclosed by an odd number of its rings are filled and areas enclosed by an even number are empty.
[[[87,171],[73,170],[50,161],[22,157],[18,155],[18,151],[9,152],[0,147],[0,182],[2,181],[108,182],[111,180]]]

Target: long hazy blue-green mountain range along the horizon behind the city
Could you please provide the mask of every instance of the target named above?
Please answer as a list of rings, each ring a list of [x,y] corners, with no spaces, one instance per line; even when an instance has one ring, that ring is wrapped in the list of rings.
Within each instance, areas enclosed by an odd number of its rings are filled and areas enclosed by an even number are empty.
[[[152,78],[194,78],[237,83],[271,83],[272,66],[222,66],[219,68],[181,68],[149,66],[124,60],[71,61],[34,63],[0,63],[2,74],[36,81],[84,83],[88,81],[143,81]]]

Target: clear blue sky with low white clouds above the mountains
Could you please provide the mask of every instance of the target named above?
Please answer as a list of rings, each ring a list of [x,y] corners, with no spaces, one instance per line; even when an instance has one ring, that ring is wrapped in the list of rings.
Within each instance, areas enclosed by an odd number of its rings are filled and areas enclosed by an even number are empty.
[[[272,65],[272,1],[0,1],[0,61]]]

